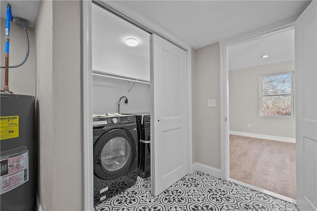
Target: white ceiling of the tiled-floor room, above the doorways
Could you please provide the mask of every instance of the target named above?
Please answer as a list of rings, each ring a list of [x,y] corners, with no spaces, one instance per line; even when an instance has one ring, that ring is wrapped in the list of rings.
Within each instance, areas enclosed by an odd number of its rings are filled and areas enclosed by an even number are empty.
[[[194,49],[298,17],[305,0],[114,0],[142,14]]]

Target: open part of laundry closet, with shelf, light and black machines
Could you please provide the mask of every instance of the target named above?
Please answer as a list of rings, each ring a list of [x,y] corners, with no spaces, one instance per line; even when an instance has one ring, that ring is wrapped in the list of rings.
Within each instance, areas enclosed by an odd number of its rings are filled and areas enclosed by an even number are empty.
[[[151,188],[150,33],[92,4],[94,206]]]

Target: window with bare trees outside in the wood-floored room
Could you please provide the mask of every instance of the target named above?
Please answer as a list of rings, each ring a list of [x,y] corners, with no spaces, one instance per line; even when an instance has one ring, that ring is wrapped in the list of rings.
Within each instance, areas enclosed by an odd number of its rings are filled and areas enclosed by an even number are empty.
[[[294,116],[293,72],[260,78],[260,116]]]

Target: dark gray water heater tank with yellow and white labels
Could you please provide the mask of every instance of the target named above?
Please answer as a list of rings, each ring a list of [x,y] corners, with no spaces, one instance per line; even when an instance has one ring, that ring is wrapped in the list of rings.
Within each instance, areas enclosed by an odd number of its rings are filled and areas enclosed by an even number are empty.
[[[0,210],[35,208],[35,97],[0,94]]]

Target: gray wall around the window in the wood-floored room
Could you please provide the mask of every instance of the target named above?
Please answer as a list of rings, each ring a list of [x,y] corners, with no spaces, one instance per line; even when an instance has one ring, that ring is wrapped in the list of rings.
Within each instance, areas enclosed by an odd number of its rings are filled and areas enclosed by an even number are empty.
[[[294,70],[288,61],[229,71],[230,130],[295,138],[295,118],[260,117],[260,76]]]

